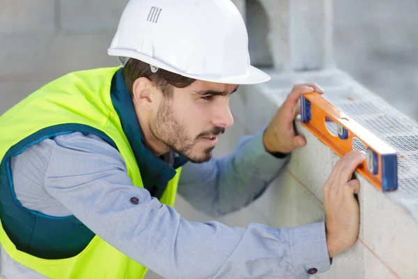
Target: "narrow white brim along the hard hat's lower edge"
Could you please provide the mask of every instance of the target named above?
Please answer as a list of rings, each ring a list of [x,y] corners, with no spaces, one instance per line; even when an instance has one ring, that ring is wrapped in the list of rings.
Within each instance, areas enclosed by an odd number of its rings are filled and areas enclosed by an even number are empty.
[[[258,84],[262,82],[268,82],[271,79],[270,75],[264,73],[262,70],[259,70],[258,68],[251,65],[249,66],[249,70],[247,70],[247,75],[238,75],[233,77],[215,77],[207,75],[193,75],[188,73],[182,73],[181,71],[176,70],[165,63],[157,61],[156,59],[153,59],[148,55],[133,52],[130,50],[109,48],[107,52],[111,56],[125,56],[133,59],[138,59],[140,61],[144,61],[145,63],[149,63],[150,65],[155,66],[157,68],[168,70],[171,73],[183,75],[184,77],[190,77],[195,80],[204,80],[207,82],[217,82],[225,84]]]

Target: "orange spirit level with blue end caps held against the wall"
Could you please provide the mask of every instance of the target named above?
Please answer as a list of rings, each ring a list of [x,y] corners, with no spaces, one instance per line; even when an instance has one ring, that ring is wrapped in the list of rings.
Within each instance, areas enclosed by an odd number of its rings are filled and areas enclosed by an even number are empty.
[[[382,191],[398,188],[398,156],[391,146],[344,114],[319,93],[300,97],[302,126],[339,156],[353,149],[366,151],[366,164],[357,172]]]

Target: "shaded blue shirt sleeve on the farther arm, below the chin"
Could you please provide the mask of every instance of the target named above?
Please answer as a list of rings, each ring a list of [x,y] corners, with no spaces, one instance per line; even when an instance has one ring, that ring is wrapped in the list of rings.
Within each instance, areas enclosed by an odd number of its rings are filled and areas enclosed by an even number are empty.
[[[263,132],[241,137],[235,151],[208,163],[187,163],[178,193],[199,211],[219,217],[237,211],[257,199],[277,177],[288,158],[265,151]]]

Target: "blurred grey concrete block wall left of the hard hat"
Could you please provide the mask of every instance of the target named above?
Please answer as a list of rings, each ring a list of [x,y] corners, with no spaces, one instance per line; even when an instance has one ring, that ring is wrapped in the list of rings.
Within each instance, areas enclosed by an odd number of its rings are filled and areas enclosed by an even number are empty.
[[[0,0],[0,113],[60,75],[117,66],[107,47],[126,3]]]

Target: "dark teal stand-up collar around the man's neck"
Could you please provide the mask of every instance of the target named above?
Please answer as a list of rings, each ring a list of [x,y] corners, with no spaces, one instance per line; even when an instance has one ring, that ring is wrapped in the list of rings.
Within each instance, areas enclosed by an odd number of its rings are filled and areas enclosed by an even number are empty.
[[[110,94],[114,108],[121,119],[123,132],[137,160],[144,188],[150,191],[151,195],[161,197],[169,180],[176,175],[176,169],[187,163],[187,159],[171,152],[159,158],[154,156],[145,146],[144,135],[134,110],[132,98],[125,86],[122,68],[112,78]]]

